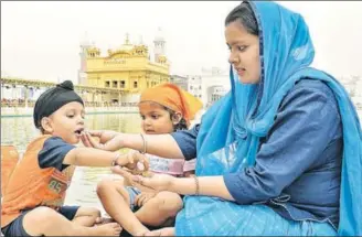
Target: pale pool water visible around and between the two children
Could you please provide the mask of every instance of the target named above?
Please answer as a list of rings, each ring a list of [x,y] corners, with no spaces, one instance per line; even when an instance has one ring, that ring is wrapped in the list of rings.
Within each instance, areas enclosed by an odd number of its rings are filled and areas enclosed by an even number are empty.
[[[140,117],[137,114],[87,115],[85,123],[89,129],[140,131]],[[39,134],[32,117],[1,118],[1,143],[14,144],[20,153],[23,153],[28,143]],[[65,204],[100,208],[96,185],[106,176],[114,176],[108,168],[77,168],[67,191]]]

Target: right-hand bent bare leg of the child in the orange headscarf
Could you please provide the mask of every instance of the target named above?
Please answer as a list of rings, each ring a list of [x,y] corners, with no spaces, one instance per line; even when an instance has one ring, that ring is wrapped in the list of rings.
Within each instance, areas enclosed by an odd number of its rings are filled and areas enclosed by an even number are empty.
[[[169,218],[173,218],[182,206],[182,198],[179,194],[164,191],[149,200],[136,212],[136,216],[146,225],[160,226]]]

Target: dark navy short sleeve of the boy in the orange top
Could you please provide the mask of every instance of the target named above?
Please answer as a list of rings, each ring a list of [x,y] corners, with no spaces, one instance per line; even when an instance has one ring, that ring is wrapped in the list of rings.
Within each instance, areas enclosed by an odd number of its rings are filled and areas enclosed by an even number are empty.
[[[57,170],[63,171],[68,166],[63,164],[63,160],[67,152],[74,148],[75,146],[66,143],[58,137],[49,138],[38,155],[40,168],[56,168]]]

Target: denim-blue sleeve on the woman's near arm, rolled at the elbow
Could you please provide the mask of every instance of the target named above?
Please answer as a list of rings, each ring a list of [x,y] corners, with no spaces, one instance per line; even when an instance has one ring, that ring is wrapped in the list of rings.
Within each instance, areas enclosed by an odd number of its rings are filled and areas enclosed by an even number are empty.
[[[326,85],[295,86],[260,142],[256,165],[225,174],[227,190],[239,204],[277,197],[311,165],[324,159],[321,154],[339,131],[339,121],[336,100]]]

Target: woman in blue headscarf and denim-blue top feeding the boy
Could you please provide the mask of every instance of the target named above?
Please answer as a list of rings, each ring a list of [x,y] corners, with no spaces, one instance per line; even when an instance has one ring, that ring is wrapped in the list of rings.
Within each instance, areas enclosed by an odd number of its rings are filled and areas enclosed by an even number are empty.
[[[310,67],[302,17],[275,2],[243,2],[225,20],[225,39],[232,90],[200,126],[171,136],[92,131],[102,142],[93,146],[196,154],[195,179],[113,169],[185,195],[177,236],[361,236],[360,121],[343,87]]]

